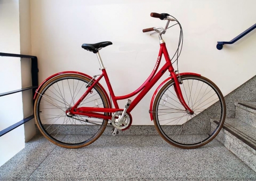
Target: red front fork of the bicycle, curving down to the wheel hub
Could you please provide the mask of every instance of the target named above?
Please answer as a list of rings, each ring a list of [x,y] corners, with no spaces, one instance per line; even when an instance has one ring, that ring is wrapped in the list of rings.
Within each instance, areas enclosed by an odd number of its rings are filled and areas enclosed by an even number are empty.
[[[191,110],[191,108],[188,106],[188,104],[185,102],[182,92],[181,92],[181,88],[180,88],[180,82],[178,80],[178,78],[180,78],[175,74],[175,72],[171,72],[171,76],[174,79],[174,90],[176,92],[176,95],[178,97],[178,99],[180,100],[180,103],[183,105],[183,107],[188,110],[190,112],[190,114],[192,115],[194,112]],[[181,80],[182,81],[182,80]],[[182,82],[181,82],[182,83]]]

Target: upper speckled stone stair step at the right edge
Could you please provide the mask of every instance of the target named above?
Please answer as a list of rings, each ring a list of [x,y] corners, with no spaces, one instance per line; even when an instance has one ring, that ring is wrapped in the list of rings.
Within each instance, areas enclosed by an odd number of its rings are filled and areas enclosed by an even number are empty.
[[[256,128],[256,102],[237,102],[235,106],[235,117]]]

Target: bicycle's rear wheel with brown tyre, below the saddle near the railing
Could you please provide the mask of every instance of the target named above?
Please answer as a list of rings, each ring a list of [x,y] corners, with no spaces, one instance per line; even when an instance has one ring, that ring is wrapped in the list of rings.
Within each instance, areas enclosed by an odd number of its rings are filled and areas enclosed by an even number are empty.
[[[96,141],[105,130],[107,120],[66,115],[66,110],[86,92],[90,80],[76,74],[64,74],[50,79],[38,91],[34,104],[35,122],[41,133],[54,144],[64,148],[84,147]],[[98,85],[78,107],[81,106],[109,107]]]

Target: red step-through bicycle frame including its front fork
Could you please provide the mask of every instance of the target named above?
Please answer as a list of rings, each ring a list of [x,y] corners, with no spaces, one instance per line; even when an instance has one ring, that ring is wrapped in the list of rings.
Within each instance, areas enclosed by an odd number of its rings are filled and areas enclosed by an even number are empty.
[[[165,64],[160,68],[160,70],[157,72],[159,65],[160,65],[160,61],[162,58],[162,54],[164,55],[165,58]],[[178,99],[180,100],[181,104],[184,106],[185,110],[188,110],[191,114],[193,114],[193,111],[190,109],[190,107],[186,104],[186,102],[184,101],[184,98],[182,96],[182,92],[180,89],[180,82],[178,81],[177,75],[174,72],[174,68],[172,66],[169,54],[167,52],[165,43],[161,43],[160,44],[160,51],[159,51],[159,55],[158,55],[158,59],[156,62],[156,65],[152,71],[152,73],[150,74],[150,76],[146,79],[146,81],[134,92],[128,94],[128,95],[124,95],[124,96],[115,96],[112,86],[110,84],[107,72],[105,69],[102,69],[102,74],[97,78],[93,78],[92,80],[92,85],[90,85],[87,89],[87,91],[83,94],[83,96],[74,104],[73,107],[71,107],[68,111],[71,114],[77,114],[77,115],[83,115],[83,116],[88,116],[88,117],[95,117],[95,118],[102,118],[102,119],[111,119],[111,116],[107,116],[101,113],[97,113],[97,112],[116,112],[116,111],[120,111],[123,109],[120,109],[118,106],[117,101],[118,100],[124,100],[124,99],[128,99],[132,96],[135,96],[136,94],[137,97],[135,97],[135,99],[131,102],[127,112],[129,113],[130,111],[132,111],[132,109],[142,100],[142,98],[148,93],[148,91],[156,84],[156,82],[162,77],[162,75],[166,72],[166,71],[170,72],[170,76],[174,79],[175,81],[175,92],[177,94]],[[86,96],[91,93],[93,87],[99,82],[99,80],[104,77],[107,87],[109,89],[111,98],[113,100],[113,104],[115,106],[115,108],[99,108],[99,107],[78,107],[79,104],[86,98]]]

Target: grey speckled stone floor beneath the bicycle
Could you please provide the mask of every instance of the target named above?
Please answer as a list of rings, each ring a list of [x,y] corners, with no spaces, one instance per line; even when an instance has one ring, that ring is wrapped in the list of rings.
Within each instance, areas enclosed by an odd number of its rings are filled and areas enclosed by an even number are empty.
[[[256,181],[256,172],[216,139],[194,150],[158,135],[102,135],[81,149],[41,135],[0,167],[0,181]]]

